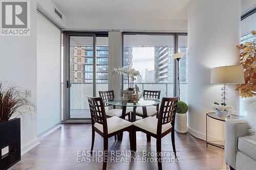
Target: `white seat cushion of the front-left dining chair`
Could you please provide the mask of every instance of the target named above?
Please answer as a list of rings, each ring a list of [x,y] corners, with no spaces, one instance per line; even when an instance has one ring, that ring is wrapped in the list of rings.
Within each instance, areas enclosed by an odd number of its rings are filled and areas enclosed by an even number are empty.
[[[131,122],[128,122],[120,117],[113,116],[106,119],[106,123],[108,125],[108,134],[119,131],[123,128],[127,128],[132,126]],[[95,123],[94,127],[100,130],[103,133],[103,126],[99,123]]]

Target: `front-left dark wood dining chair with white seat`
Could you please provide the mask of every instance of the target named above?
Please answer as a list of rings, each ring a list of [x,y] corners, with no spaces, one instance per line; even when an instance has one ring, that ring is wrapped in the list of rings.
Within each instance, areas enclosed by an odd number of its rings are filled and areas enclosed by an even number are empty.
[[[112,136],[129,131],[130,147],[131,151],[134,148],[133,142],[135,141],[132,136],[134,133],[132,127],[133,124],[117,116],[106,118],[104,103],[102,98],[90,97],[87,95],[88,103],[91,112],[92,120],[92,147],[91,154],[93,153],[95,132],[103,137],[103,166],[102,169],[106,169],[106,163],[108,162],[108,139]]]

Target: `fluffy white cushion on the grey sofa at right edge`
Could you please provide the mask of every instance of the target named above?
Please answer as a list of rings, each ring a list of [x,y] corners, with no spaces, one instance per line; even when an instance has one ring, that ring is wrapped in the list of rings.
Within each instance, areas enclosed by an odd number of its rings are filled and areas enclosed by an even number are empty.
[[[256,96],[246,98],[243,102],[245,111],[247,113],[246,120],[250,125],[249,133],[256,132]]]

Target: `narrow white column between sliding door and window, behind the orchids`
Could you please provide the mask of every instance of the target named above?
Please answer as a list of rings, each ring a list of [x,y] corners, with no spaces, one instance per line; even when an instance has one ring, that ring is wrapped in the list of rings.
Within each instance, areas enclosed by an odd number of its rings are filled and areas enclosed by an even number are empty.
[[[122,66],[122,33],[109,32],[109,90],[114,90],[115,96],[121,95],[121,76],[113,75],[114,68]]]

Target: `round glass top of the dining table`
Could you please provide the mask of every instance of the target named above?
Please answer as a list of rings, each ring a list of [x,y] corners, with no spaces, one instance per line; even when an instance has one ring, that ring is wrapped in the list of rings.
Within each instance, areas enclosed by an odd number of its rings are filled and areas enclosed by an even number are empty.
[[[105,103],[108,103],[110,105],[115,106],[126,106],[126,107],[142,107],[142,106],[151,106],[151,105],[157,105],[161,103],[159,99],[154,98],[140,98],[137,102],[132,101],[123,101],[123,98],[115,98],[114,100],[106,101]]]

